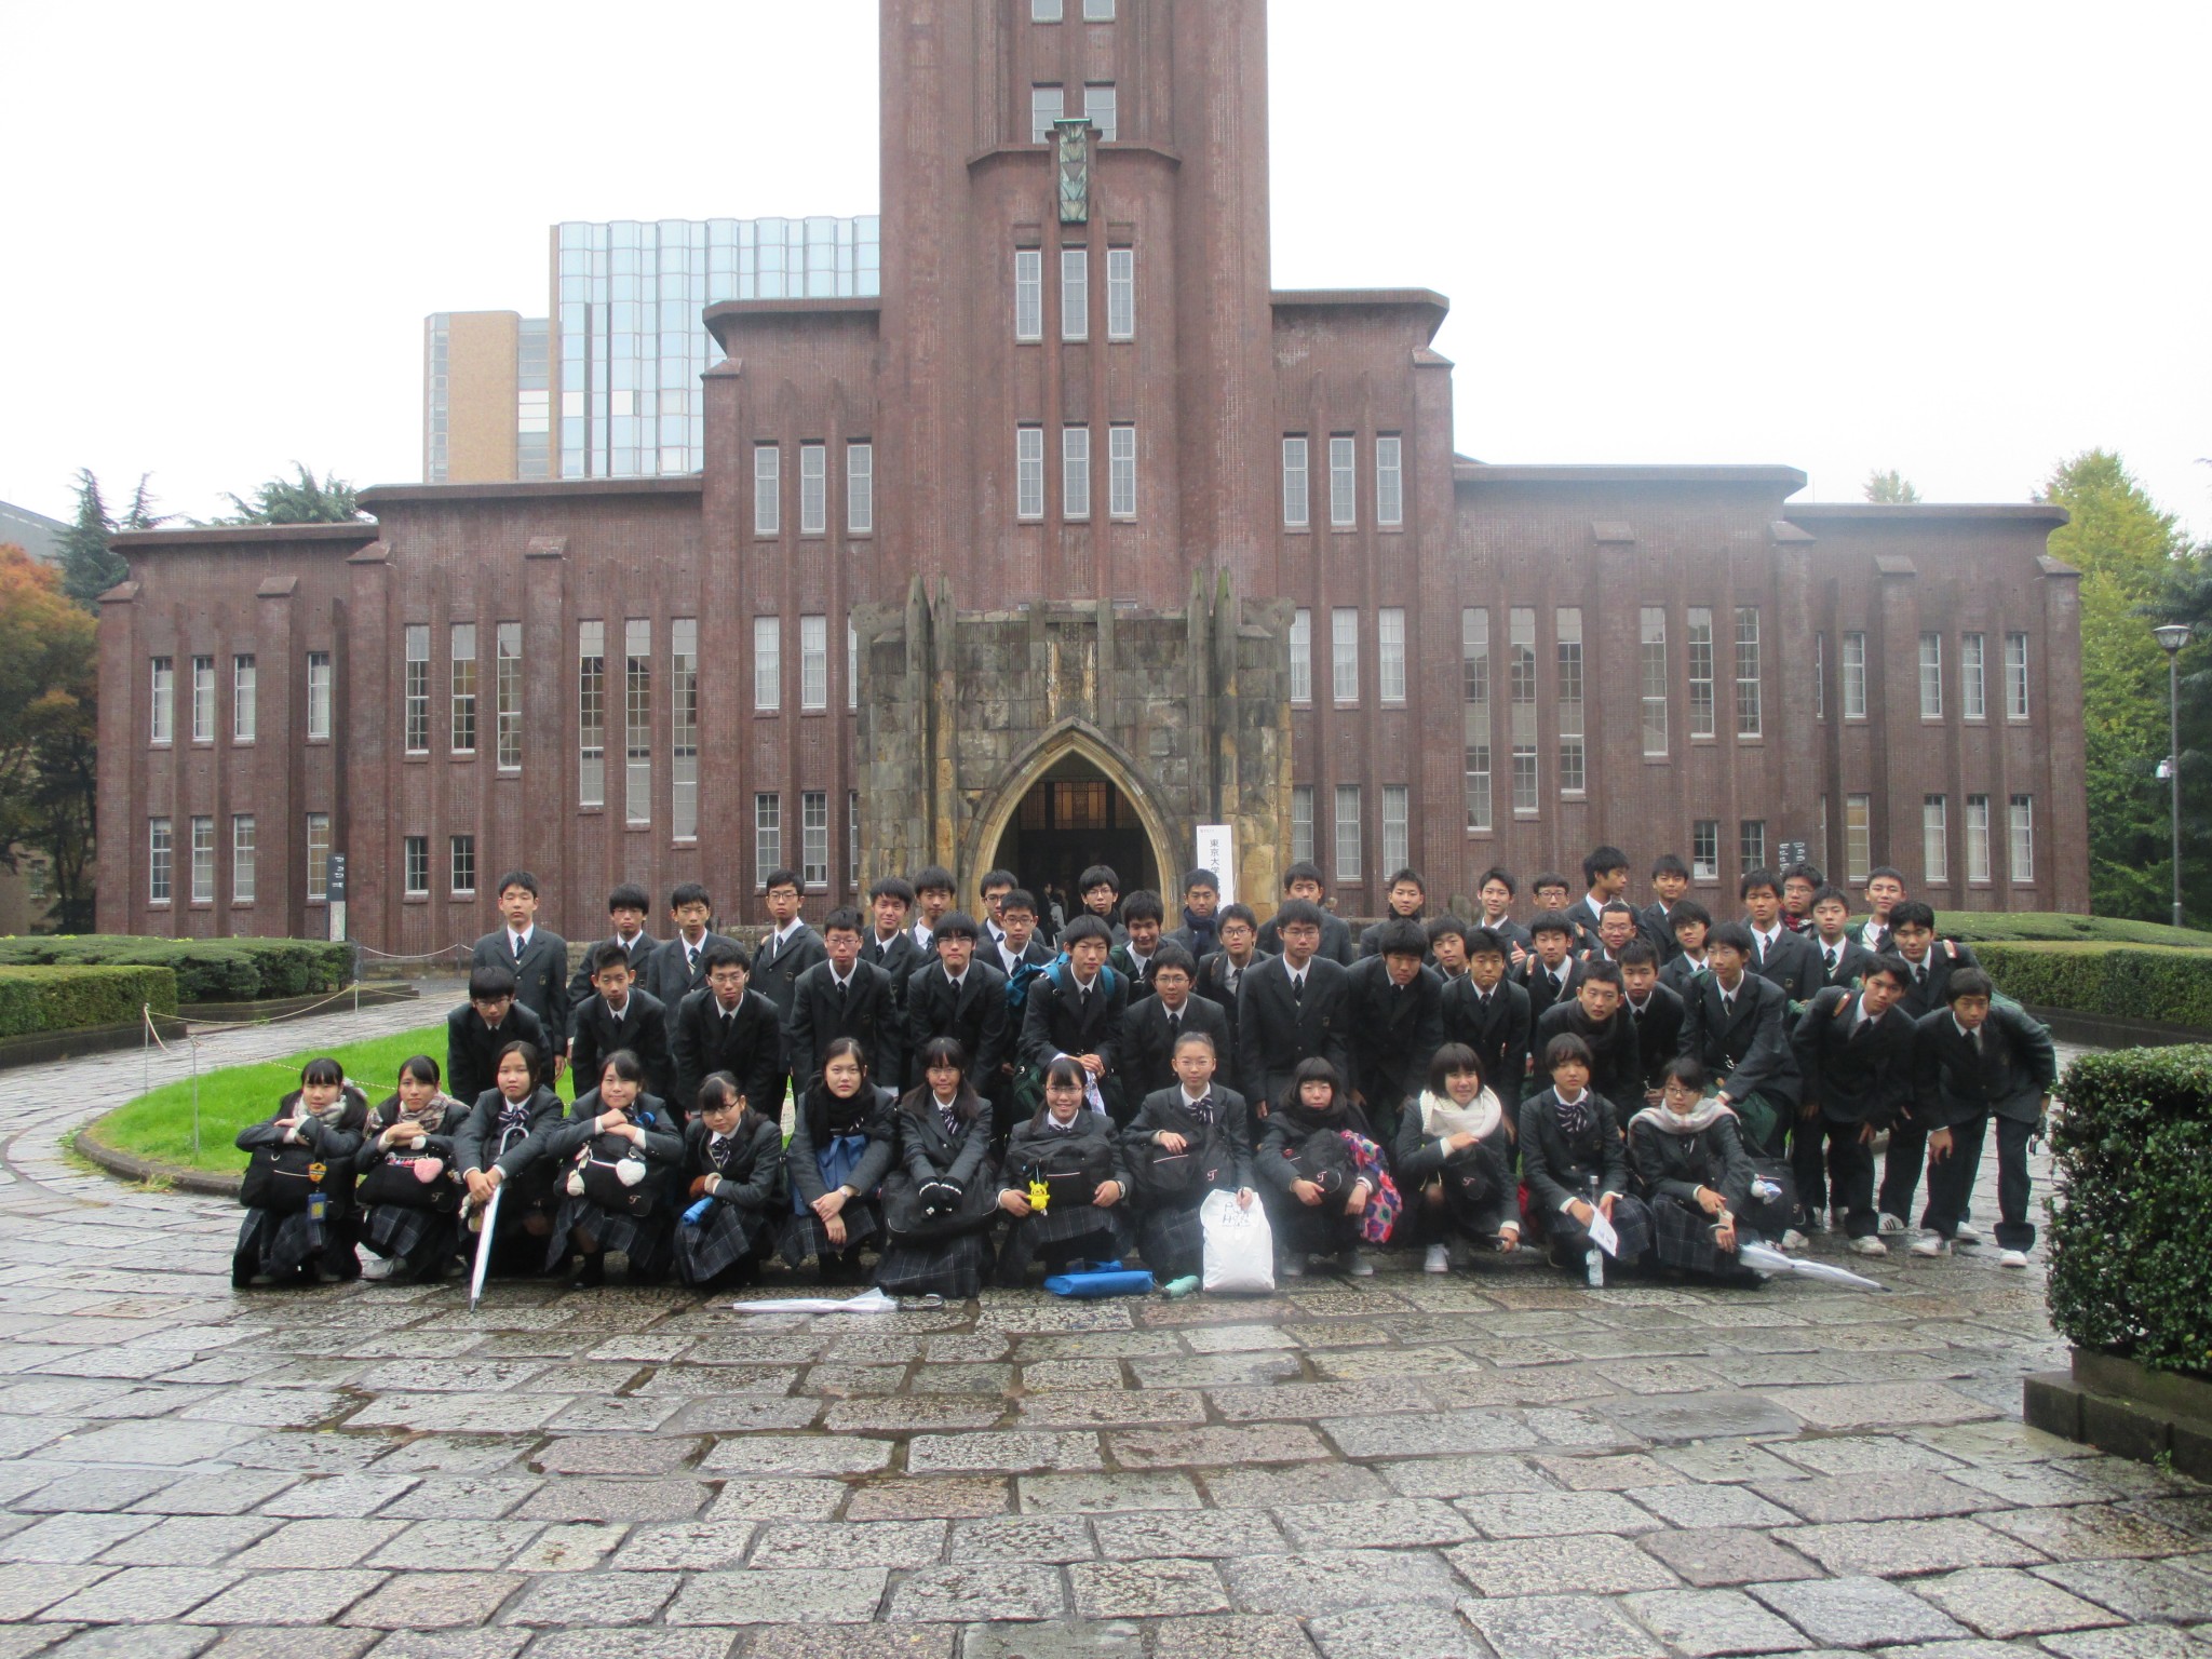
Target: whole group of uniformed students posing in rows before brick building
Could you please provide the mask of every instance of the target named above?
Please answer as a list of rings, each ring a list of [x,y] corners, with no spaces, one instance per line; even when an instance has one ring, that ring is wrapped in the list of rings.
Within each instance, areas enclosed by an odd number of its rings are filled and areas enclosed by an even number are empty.
[[[1449,1272],[1528,1234],[1590,1283],[1743,1279],[1745,1241],[1801,1250],[1827,1225],[1887,1254],[1922,1170],[1911,1250],[1980,1241],[1991,1124],[1995,1241],[2024,1265],[2051,1037],[1896,869],[1858,925],[1809,865],[1750,872],[1723,922],[1681,858],[1652,865],[1641,909],[1628,880],[1599,847],[1582,898],[1537,876],[1517,922],[1515,878],[1489,869],[1469,922],[1427,916],[1402,869],[1354,940],[1310,863],[1265,925],[1194,869],[1175,929],[1097,865],[1046,947],[1009,872],[984,876],[982,920],[931,867],[818,933],[774,872],[752,947],[710,929],[699,885],[675,889],[668,940],[617,887],[615,931],[568,978],[511,872],[442,1075],[418,1055],[372,1110],[319,1060],[239,1137],[234,1281],[354,1276],[358,1243],[392,1281],[436,1279],[487,1212],[498,1270],[575,1283],[608,1254],[641,1281],[750,1283],[772,1256],[849,1281],[874,1252],[887,1290],[969,1296],[1130,1250],[1172,1281],[1199,1270],[1212,1192],[1265,1203],[1287,1276],[1367,1274],[1376,1243]]]

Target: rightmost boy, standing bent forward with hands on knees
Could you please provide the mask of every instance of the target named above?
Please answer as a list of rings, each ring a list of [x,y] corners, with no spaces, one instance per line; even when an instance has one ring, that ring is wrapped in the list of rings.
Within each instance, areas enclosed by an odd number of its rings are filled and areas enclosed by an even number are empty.
[[[2051,1110],[2057,1051],[2033,1015],[1995,1002],[1995,987],[1982,969],[1953,973],[1947,995],[1949,1006],[1922,1015],[1913,1048],[1916,1110],[1929,1126],[1927,1234],[1913,1239],[1913,1254],[1951,1254],[1982,1166],[1982,1141],[1995,1119],[2000,1263],[2026,1267],[2035,1248],[2028,1141]]]

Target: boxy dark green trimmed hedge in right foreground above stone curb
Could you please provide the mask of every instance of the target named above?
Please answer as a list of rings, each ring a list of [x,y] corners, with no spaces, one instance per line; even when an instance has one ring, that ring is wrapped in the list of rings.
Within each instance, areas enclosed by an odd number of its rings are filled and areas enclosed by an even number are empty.
[[[2051,1150],[2051,1323],[2075,1347],[2212,1371],[2212,1046],[2084,1055]]]

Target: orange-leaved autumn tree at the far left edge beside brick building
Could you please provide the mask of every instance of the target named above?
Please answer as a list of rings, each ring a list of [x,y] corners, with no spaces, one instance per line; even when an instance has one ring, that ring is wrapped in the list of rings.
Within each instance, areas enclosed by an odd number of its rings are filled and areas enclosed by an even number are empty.
[[[46,856],[62,931],[93,925],[97,637],[53,568],[0,544],[0,867]]]

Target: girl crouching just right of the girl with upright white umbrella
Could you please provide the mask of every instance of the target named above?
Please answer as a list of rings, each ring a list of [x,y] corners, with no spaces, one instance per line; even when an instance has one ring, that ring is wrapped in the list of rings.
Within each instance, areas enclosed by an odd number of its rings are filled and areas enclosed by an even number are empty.
[[[568,1121],[546,1130],[546,1159],[560,1175],[546,1272],[584,1256],[575,1287],[606,1283],[606,1252],[628,1256],[630,1283],[668,1272],[668,1186],[684,1164],[684,1137],[659,1095],[646,1093],[644,1062],[617,1048],[599,1062],[599,1086],[577,1095]]]

